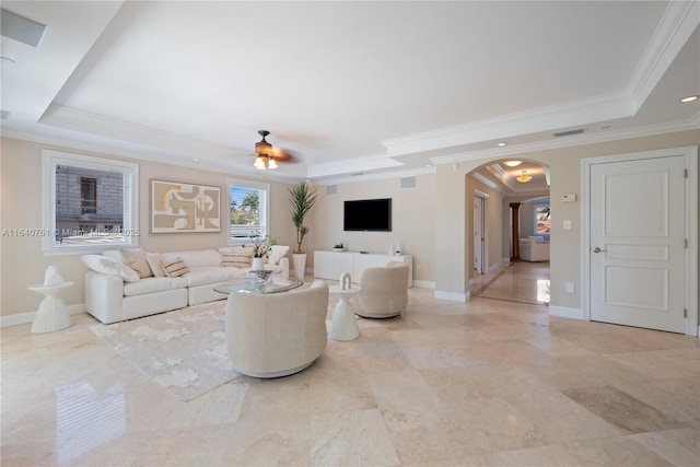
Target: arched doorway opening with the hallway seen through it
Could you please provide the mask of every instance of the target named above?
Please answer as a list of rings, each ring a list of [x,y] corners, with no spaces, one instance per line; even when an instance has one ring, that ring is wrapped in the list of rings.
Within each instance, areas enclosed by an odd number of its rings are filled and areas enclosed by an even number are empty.
[[[541,246],[533,248],[538,252],[549,246],[549,167],[537,161],[506,162],[494,160],[467,173],[470,295],[548,303],[549,258],[521,261],[518,246],[522,236],[541,237]]]

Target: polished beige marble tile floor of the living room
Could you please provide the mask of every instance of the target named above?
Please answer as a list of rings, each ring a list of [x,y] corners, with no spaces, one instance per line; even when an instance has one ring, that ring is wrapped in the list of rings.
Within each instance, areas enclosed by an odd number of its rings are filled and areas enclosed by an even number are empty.
[[[3,467],[700,464],[697,338],[413,288],[302,373],[183,402],[73,318],[1,329]]]

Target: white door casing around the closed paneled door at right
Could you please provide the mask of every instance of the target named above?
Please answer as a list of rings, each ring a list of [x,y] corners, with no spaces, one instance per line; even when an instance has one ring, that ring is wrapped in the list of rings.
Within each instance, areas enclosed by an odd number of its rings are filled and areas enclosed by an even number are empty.
[[[656,151],[633,152],[581,160],[581,305],[583,319],[591,319],[591,167],[595,164],[658,159],[684,155],[688,178],[686,179],[686,238],[688,247],[685,253],[685,307],[687,336],[699,336],[698,332],[698,147],[670,148]]]

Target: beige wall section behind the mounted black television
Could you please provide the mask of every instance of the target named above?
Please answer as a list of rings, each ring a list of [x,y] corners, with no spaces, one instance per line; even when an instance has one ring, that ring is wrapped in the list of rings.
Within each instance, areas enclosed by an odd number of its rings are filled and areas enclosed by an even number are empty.
[[[329,249],[342,243],[353,252],[386,253],[389,245],[399,242],[401,250],[413,256],[413,280],[434,281],[434,174],[417,176],[413,188],[400,188],[400,179],[394,177],[341,184],[335,195],[326,195],[326,187],[322,186],[318,192],[311,224],[311,249]],[[392,232],[345,232],[343,201],[371,198],[392,198]],[[313,264],[313,257],[307,262]]]

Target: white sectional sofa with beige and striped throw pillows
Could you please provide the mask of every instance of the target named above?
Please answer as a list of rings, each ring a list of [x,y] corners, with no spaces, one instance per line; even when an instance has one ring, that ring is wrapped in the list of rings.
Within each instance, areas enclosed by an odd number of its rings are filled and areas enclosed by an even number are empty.
[[[85,310],[109,324],[226,299],[215,292],[214,287],[250,271],[250,267],[242,262],[224,261],[224,254],[235,248],[241,247],[155,254],[160,255],[159,262],[153,264],[149,256],[151,270],[147,272],[127,266],[120,250],[84,255],[83,262],[90,268],[85,272]],[[265,269],[289,277],[288,250],[287,246],[276,245]],[[171,277],[160,269],[159,266],[176,258],[186,266],[182,276]]]

